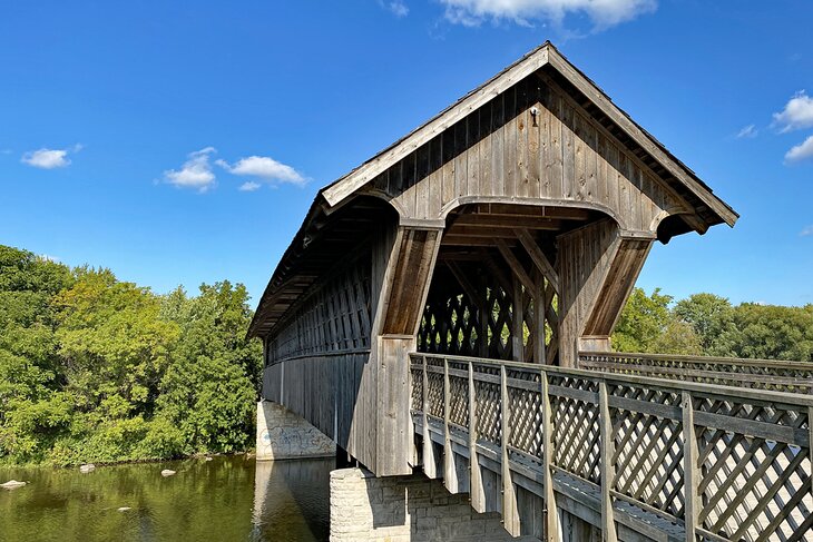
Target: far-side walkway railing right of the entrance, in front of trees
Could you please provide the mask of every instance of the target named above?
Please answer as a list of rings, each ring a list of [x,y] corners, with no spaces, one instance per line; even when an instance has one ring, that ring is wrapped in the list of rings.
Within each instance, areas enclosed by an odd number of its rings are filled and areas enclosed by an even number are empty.
[[[579,368],[755,390],[813,393],[813,363],[807,362],[580,352]]]

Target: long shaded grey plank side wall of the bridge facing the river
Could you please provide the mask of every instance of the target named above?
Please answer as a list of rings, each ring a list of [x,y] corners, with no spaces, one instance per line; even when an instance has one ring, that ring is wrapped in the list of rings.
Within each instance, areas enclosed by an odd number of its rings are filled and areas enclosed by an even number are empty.
[[[371,253],[374,247],[349,255],[272,329],[263,397],[282,403],[374,467]]]

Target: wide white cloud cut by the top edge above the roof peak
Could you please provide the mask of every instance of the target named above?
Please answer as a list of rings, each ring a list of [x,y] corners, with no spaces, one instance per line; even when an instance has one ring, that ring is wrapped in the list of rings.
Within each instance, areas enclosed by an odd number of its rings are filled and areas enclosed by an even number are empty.
[[[440,0],[453,23],[478,26],[487,19],[529,24],[546,20],[560,24],[567,14],[587,16],[596,29],[605,29],[655,11],[656,0]]]

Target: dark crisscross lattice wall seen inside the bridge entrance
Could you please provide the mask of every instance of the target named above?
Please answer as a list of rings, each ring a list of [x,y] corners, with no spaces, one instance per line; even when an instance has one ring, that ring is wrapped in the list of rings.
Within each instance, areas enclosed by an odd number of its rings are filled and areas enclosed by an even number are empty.
[[[554,362],[558,349],[558,315],[552,287],[542,279],[545,287],[539,292],[525,286],[515,288],[507,276],[497,278],[492,274],[491,262],[490,270],[477,262],[452,264],[454,272],[443,265],[435,268],[418,331],[419,352],[531,362],[539,306],[546,357]],[[497,270],[503,272],[510,273]],[[461,284],[461,275],[466,285]],[[515,353],[515,318],[520,314],[522,352]]]

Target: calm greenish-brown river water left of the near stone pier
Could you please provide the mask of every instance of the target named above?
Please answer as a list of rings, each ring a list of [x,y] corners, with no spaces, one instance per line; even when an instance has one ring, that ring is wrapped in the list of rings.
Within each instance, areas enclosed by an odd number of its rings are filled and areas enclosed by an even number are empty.
[[[177,474],[163,477],[160,471]],[[0,469],[0,541],[326,541],[335,460]],[[119,511],[119,507],[129,507]]]

